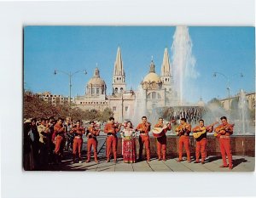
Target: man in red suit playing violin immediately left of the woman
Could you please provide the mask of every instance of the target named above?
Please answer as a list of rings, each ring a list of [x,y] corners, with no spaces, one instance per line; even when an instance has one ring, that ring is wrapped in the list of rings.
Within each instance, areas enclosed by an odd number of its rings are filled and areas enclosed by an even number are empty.
[[[116,163],[117,162],[117,155],[116,155],[116,150],[117,150],[117,136],[116,133],[119,132],[121,124],[114,123],[114,118],[110,117],[109,118],[109,123],[107,123],[104,127],[104,133],[107,133],[107,162],[110,161],[110,152],[111,152],[111,147],[113,150],[113,161]]]

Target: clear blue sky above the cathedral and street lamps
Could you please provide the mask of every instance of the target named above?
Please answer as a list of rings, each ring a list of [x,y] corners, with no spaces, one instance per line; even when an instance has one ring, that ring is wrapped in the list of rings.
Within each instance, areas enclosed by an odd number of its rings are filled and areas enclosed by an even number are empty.
[[[68,96],[69,78],[55,70],[76,73],[72,77],[72,96],[84,95],[86,83],[97,67],[112,93],[113,65],[117,48],[121,48],[126,89],[137,90],[148,74],[153,56],[156,73],[164,50],[168,49],[172,65],[172,42],[175,26],[25,26],[24,27],[24,87],[34,93],[49,91]],[[224,99],[240,89],[255,91],[255,32],[246,26],[189,26],[193,43],[195,71],[191,79],[190,102],[202,98]],[[243,77],[238,74],[243,74]],[[175,80],[175,76],[173,76]],[[193,90],[191,92],[191,90]]]

